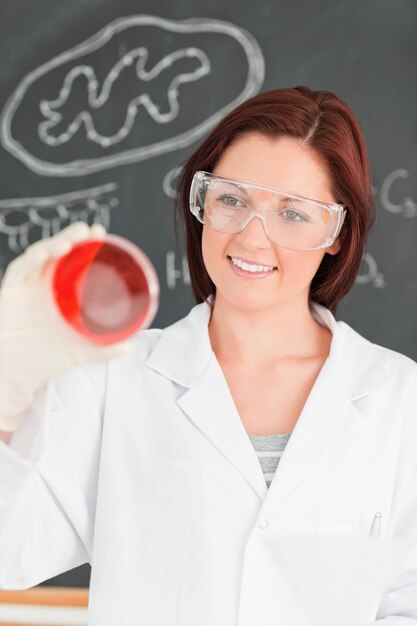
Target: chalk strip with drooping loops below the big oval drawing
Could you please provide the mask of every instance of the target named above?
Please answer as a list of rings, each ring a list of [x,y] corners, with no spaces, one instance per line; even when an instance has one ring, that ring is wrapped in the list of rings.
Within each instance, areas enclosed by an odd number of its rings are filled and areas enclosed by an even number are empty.
[[[68,193],[63,193],[63,194],[53,195],[53,196],[1,199],[0,200],[0,234],[7,235],[9,238],[14,237],[15,239],[19,237],[22,243],[17,244],[16,242],[15,244],[12,243],[12,245],[10,245],[10,242],[8,243],[9,248],[13,252],[19,253],[22,250],[24,250],[25,247],[29,245],[29,241],[27,237],[28,237],[30,228],[33,226],[42,225],[42,224],[38,224],[35,219],[35,213],[36,213],[37,208],[55,207],[59,213],[60,207],[61,207],[62,219],[65,219],[66,217],[68,217],[68,214],[65,209],[66,204],[70,204],[71,202],[77,201],[77,200],[89,200],[89,199],[94,200],[95,198],[98,199],[100,198],[100,196],[103,196],[106,193],[115,192],[118,189],[118,187],[119,186],[117,183],[107,183],[105,185],[99,185],[97,187],[91,187],[89,189],[70,191]],[[30,222],[31,222],[30,225],[29,226],[24,225],[23,227],[7,226],[4,223],[2,211],[5,211],[5,210],[12,211],[13,209],[26,210],[28,213],[28,217],[30,218]],[[62,212],[62,210],[64,210],[64,212]],[[77,219],[81,219],[81,218],[78,217]],[[108,228],[109,224],[106,223],[106,224],[103,224],[103,226]],[[19,232],[19,229],[21,229],[22,232]],[[58,230],[59,229],[56,229],[56,232],[58,232]]]

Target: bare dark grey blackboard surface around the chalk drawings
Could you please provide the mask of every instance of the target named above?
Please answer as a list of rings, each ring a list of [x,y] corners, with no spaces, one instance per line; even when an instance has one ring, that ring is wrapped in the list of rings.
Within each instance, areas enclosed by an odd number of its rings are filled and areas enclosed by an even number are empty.
[[[3,113],[8,98],[36,68],[82,43],[113,20],[134,15],[175,21],[214,18],[233,24],[250,33],[262,50],[265,78],[258,91],[304,84],[334,91],[349,103],[367,140],[378,220],[357,284],[340,306],[337,317],[372,341],[417,359],[416,1],[2,0]],[[158,125],[143,110],[139,111],[135,127],[123,144],[125,149],[171,137],[209,118],[236,98],[247,75],[242,49],[230,37],[151,30],[126,34],[125,42],[123,36],[119,38],[116,54],[123,55],[133,44],[144,45],[149,46],[154,55],[152,61],[156,62],[158,55],[162,57],[179,47],[201,47],[210,57],[212,72],[194,84],[180,87],[180,113],[173,122]],[[94,57],[99,59],[99,80],[114,63],[114,54],[114,46],[110,45]],[[82,62],[87,60],[81,58],[74,63]],[[37,150],[40,158],[51,158],[54,150],[42,147],[37,139],[39,101],[57,97],[65,74],[57,70],[34,83],[12,124],[17,139]],[[103,132],[108,126],[117,128],[131,88],[129,81],[118,85],[116,97],[110,99],[114,117],[103,113],[100,118],[97,114],[97,124]],[[166,111],[164,83],[155,88],[161,90],[156,94],[160,94],[161,111]],[[85,91],[79,87],[74,90],[71,106],[84,102],[83,98]],[[19,246],[24,249],[27,243],[47,236],[48,229],[52,233],[68,223],[68,218],[60,217],[59,207],[51,201],[40,209],[39,198],[51,199],[114,183],[117,189],[109,197],[115,197],[118,206],[110,210],[110,230],[141,246],[161,281],[161,304],[153,325],[165,326],[183,316],[191,307],[192,298],[183,253],[175,243],[172,200],[164,193],[162,181],[169,171],[181,166],[197,145],[198,140],[146,160],[82,176],[37,173],[4,146],[0,147],[0,272],[18,254]],[[55,150],[55,160],[63,163],[74,154],[93,158],[106,153],[103,148],[86,146],[79,133],[71,145]],[[19,204],[22,198],[25,200]],[[104,204],[106,198],[104,194]],[[67,213],[82,211],[82,204],[82,200],[78,204],[70,202]],[[27,228],[29,215],[32,221],[25,243],[25,237],[19,239],[19,233]],[[91,221],[91,211],[84,218]],[[89,569],[85,566],[50,582],[87,585],[88,577]]]

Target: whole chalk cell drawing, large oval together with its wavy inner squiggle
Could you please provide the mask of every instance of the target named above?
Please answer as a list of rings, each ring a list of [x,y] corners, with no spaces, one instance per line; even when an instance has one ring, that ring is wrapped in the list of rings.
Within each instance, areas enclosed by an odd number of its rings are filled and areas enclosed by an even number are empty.
[[[88,63],[79,62],[82,57],[102,52],[102,48],[114,38],[120,39],[128,36],[140,37],[143,30],[137,27],[158,27],[163,31],[172,34],[172,37],[181,38],[182,46],[175,51],[170,51],[160,58],[160,60],[152,68],[145,68],[148,60],[148,50],[145,46],[130,46],[131,49],[123,52],[122,58],[117,63],[113,63],[109,68],[102,84],[97,79],[98,72]],[[210,54],[201,48],[189,46],[183,47],[184,35],[189,34],[195,42],[196,35],[200,35],[202,45],[204,45],[204,35],[214,33],[216,35],[225,35],[233,40],[233,44],[239,44],[240,50],[243,52],[247,67],[244,68],[245,84],[240,93],[232,99],[232,101],[220,106],[212,115],[203,119],[200,123],[192,128],[180,132],[174,136],[169,136],[169,124],[179,114],[179,90],[181,85],[187,82],[196,82],[196,95],[199,94],[198,81],[211,72]],[[179,41],[179,39],[178,39]],[[120,40],[120,44],[126,42]],[[127,45],[127,44],[126,44]],[[100,59],[98,59],[100,60]],[[85,59],[84,59],[85,61]],[[99,111],[112,99],[114,106],[117,105],[117,81],[123,72],[134,68],[136,80],[139,84],[140,93],[128,102],[125,116],[119,125],[119,128],[110,135],[104,135],[96,128],[94,113]],[[232,68],[230,68],[232,69]],[[51,151],[59,150],[63,145],[69,146],[71,140],[77,133],[79,139],[80,131],[85,133],[84,143],[88,145],[94,144],[104,154],[94,157],[87,157],[81,154],[80,158],[62,161],[58,158],[57,153],[53,152],[53,158],[40,158],[35,154],[35,148],[28,147],[25,141],[16,137],[13,120],[19,107],[28,94],[31,87],[40,79],[48,76],[48,85],[52,78],[56,80],[57,73],[61,71],[64,77],[61,78],[61,88],[58,89],[56,97],[48,99],[43,97],[38,104],[39,114],[42,119],[38,124],[39,143],[48,146]],[[224,62],[224,71],[228,72],[227,57]],[[30,72],[17,86],[11,94],[0,117],[0,138],[3,147],[22,161],[29,169],[40,175],[45,176],[86,176],[100,170],[121,166],[128,163],[134,163],[155,157],[157,155],[184,148],[197,139],[206,134],[228,111],[237,106],[240,102],[246,100],[250,96],[257,93],[259,87],[264,80],[264,59],[262,51],[254,39],[247,31],[238,26],[212,19],[189,19],[184,21],[171,21],[149,15],[135,15],[130,17],[122,17],[108,24],[98,33],[94,34],[88,40],[81,44],[63,52],[62,54],[49,60],[47,63],[37,67]],[[164,89],[166,90],[166,100],[169,104],[168,111],[161,113],[159,105],[155,102],[156,98],[152,97],[150,88],[153,81],[160,76],[171,77],[164,81]],[[87,81],[87,103],[82,111],[78,110],[75,117],[71,120],[65,120],[63,110],[71,97],[74,85],[79,81]],[[45,81],[44,81],[45,82]],[[148,87],[148,89],[145,89]],[[36,90],[35,90],[36,91]],[[116,93],[116,96],[114,95]],[[38,98],[38,96],[36,96]],[[221,91],[213,96],[213,106],[219,106],[221,101]],[[216,104],[217,102],[217,104]],[[149,145],[137,145],[123,149],[123,140],[129,135],[138,115],[138,110],[144,110],[149,119],[167,126],[166,136],[162,140],[154,141]],[[68,113],[68,112],[67,112]],[[62,126],[63,125],[63,126]],[[19,129],[20,132],[20,129]],[[75,142],[76,145],[79,142]],[[126,146],[126,144],[124,144]],[[115,150],[115,148],[117,148]],[[75,150],[75,148],[73,148]],[[79,148],[77,148],[78,150]],[[86,148],[85,148],[86,150]],[[41,151],[44,153],[44,150]],[[91,154],[91,151],[90,153]],[[68,159],[65,153],[65,159]],[[77,156],[80,156],[77,154]],[[61,160],[60,160],[61,159]],[[70,157],[71,159],[71,157]]]

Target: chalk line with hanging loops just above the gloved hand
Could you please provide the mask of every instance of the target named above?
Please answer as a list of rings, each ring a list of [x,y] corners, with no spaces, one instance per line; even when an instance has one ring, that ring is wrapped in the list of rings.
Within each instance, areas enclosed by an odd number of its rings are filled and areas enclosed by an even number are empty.
[[[40,228],[41,238],[78,220],[108,229],[110,212],[119,203],[117,187],[108,183],[55,196],[0,200],[0,235],[6,235],[8,248],[20,254],[30,245],[29,234],[35,228]]]

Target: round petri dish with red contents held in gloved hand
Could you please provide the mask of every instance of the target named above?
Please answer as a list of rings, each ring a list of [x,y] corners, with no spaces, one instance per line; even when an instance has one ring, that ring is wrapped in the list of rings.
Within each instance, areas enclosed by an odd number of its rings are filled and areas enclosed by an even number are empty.
[[[53,291],[60,312],[96,343],[126,339],[156,312],[158,282],[150,261],[139,250],[135,256],[126,251],[123,241],[110,236],[77,244],[55,268]],[[136,250],[130,242],[128,246]]]

